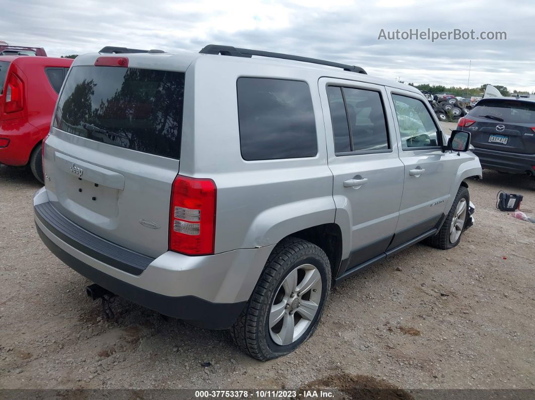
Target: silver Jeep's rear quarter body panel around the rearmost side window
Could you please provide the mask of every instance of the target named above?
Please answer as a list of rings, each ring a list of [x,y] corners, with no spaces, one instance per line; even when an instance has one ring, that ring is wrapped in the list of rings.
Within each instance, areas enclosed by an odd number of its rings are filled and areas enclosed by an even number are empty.
[[[180,174],[211,178],[217,185],[216,253],[277,244],[293,232],[334,222],[318,75],[302,67],[255,63],[203,56],[186,75]],[[316,117],[316,156],[242,159],[236,97],[241,76],[308,83]]]

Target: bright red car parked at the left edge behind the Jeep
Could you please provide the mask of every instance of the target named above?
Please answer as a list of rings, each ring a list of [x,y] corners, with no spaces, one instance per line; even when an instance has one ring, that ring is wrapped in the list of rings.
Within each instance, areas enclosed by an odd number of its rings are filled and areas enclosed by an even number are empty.
[[[41,142],[73,60],[0,56],[0,164],[27,166],[43,182]]]

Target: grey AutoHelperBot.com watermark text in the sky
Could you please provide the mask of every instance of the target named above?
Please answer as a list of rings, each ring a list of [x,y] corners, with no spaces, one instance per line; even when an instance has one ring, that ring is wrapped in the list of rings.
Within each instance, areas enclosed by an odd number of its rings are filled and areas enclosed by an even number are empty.
[[[385,30],[381,29],[377,40],[430,40],[431,42],[440,40],[507,40],[505,31],[481,31],[476,33],[475,30],[431,30],[412,29],[409,30]]]

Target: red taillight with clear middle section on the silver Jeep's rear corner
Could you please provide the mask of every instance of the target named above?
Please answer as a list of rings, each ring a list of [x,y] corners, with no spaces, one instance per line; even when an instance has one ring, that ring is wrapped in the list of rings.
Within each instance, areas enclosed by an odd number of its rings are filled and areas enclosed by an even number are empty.
[[[180,176],[171,190],[169,249],[188,255],[213,254],[216,233],[216,184]]]

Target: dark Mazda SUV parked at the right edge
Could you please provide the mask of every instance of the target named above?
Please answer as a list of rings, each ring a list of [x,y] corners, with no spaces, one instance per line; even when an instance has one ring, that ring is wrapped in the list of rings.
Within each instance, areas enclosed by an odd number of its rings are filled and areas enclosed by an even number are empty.
[[[535,99],[481,99],[457,129],[471,132],[483,168],[535,175]]]

